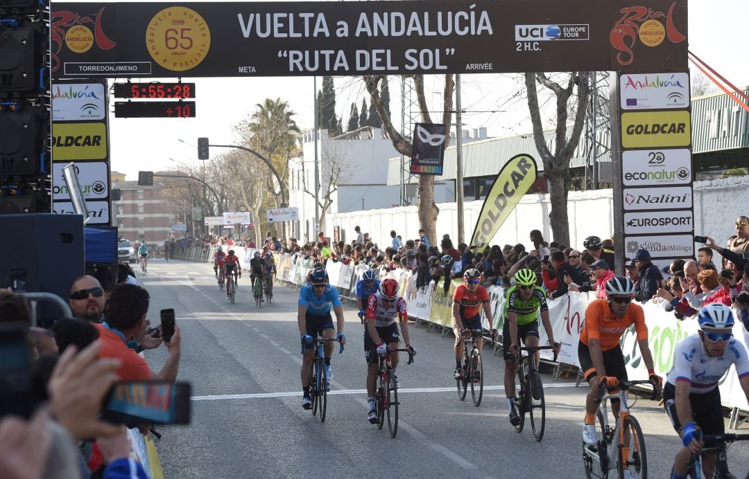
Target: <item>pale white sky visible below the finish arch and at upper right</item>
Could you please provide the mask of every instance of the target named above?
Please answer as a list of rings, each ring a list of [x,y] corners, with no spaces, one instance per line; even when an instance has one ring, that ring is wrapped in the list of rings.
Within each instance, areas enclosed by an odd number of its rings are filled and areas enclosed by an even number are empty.
[[[689,3],[689,49],[738,87],[749,84],[749,67],[743,60],[744,16],[747,0],[691,0]],[[720,7],[716,7],[720,5]],[[693,67],[692,72],[696,69]],[[488,135],[506,137],[530,132],[527,104],[516,96],[517,82],[511,75],[461,75],[464,128],[485,126]],[[400,80],[391,77],[391,111],[400,117]],[[425,78],[428,99],[440,109],[441,76]],[[132,81],[154,81],[156,78],[133,78]],[[164,79],[174,81],[175,78]],[[173,170],[197,167],[198,137],[208,137],[212,144],[239,142],[234,126],[255,111],[255,105],[266,98],[280,98],[296,112],[301,129],[313,128],[314,92],[312,77],[280,78],[183,78],[196,86],[195,111],[191,119],[123,119],[111,115],[109,120],[112,171],[137,179],[139,170]],[[348,120],[351,102],[360,107],[366,90],[360,78],[336,77],[336,112]],[[318,88],[321,77],[318,77]],[[114,99],[110,99],[114,102]],[[369,99],[368,99],[369,104]],[[110,108],[112,111],[112,108]],[[439,115],[437,115],[439,118]],[[398,122],[399,123],[399,122]],[[184,143],[179,141],[184,140]],[[211,155],[221,151],[212,148]]]

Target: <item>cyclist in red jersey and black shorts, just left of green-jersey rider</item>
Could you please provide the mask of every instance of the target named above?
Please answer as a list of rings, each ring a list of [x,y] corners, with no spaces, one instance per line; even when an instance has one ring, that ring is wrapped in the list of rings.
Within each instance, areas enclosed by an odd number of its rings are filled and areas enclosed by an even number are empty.
[[[494,330],[494,316],[491,314],[491,303],[489,303],[489,293],[486,291],[481,282],[481,273],[479,270],[470,268],[463,274],[463,284],[455,288],[452,294],[452,328],[455,331],[455,346],[452,348],[455,353],[455,379],[462,379],[464,371],[461,368],[461,358],[463,357],[464,342],[461,333],[464,330],[481,330],[481,309],[489,322],[491,335],[497,333]],[[476,347],[482,349],[484,342],[479,339]]]

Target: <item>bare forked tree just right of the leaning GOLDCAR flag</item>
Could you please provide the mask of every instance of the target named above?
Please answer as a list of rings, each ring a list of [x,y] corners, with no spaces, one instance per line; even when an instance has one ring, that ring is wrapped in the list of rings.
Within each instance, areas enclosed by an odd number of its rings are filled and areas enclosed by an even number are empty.
[[[585,111],[588,108],[590,98],[590,79],[595,72],[571,72],[568,73],[564,87],[560,81],[553,81],[545,73],[526,73],[525,86],[528,90],[528,109],[530,120],[533,123],[533,140],[536,149],[539,150],[544,164],[544,176],[551,184],[550,200],[551,232],[554,241],[569,244],[569,220],[567,216],[567,195],[570,189],[569,161],[574,149],[580,141],[585,123]],[[544,137],[544,126],[539,111],[539,97],[536,90],[536,82],[551,90],[556,96],[556,128],[554,141],[554,153],[551,152]],[[577,94],[573,96],[575,87]],[[571,104],[571,100],[577,100],[577,105]],[[567,135],[568,111],[574,109],[574,125],[569,138]]]

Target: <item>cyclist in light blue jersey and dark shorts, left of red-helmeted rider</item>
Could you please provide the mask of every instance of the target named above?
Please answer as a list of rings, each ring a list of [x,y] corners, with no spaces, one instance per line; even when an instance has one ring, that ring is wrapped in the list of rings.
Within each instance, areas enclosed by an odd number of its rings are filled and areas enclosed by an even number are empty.
[[[302,407],[309,410],[312,407],[312,399],[309,397],[309,382],[312,380],[312,339],[318,334],[323,338],[333,339],[336,329],[333,326],[333,318],[330,309],[336,312],[338,323],[338,334],[336,339],[341,344],[346,344],[346,336],[343,334],[343,305],[338,290],[328,285],[327,271],[316,268],[312,271],[310,282],[299,290],[299,308],[297,311],[297,323],[299,334],[304,344],[304,356],[302,359]],[[333,356],[333,342],[326,342],[325,372],[327,379],[333,379],[333,370],[330,369],[330,357]]]

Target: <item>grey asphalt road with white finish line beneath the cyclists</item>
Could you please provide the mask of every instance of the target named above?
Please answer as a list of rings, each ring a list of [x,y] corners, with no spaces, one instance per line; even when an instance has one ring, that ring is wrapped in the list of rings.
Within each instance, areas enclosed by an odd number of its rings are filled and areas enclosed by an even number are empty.
[[[459,401],[452,380],[452,335],[410,324],[418,354],[398,368],[400,428],[395,439],[366,421],[363,326],[345,306],[348,344],[333,356],[333,391],[324,424],[301,407],[298,290],[276,285],[258,309],[249,278],[237,302],[216,287],[210,265],[153,260],[139,281],[151,294],[148,318],[174,308],[182,331],[180,380],[192,383],[192,423],[161,426],[157,448],[166,478],[580,478],[586,390],[544,374],[546,433],[516,433],[507,419],[500,356],[485,355],[480,407]],[[154,370],[166,350],[148,351]],[[651,478],[667,478],[680,441],[654,401],[632,412],[646,436]],[[742,432],[748,427],[745,425]],[[732,470],[749,470],[749,445],[729,450]],[[741,476],[742,477],[742,476]]]

